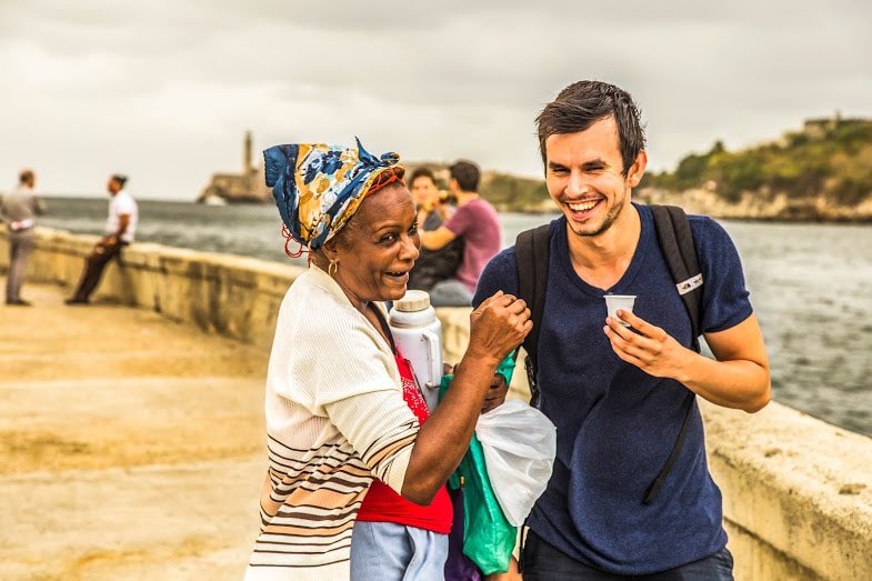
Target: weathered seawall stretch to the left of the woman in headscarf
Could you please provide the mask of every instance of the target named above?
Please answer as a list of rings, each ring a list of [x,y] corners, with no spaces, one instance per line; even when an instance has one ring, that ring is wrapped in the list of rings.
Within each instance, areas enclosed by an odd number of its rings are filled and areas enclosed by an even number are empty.
[[[38,239],[27,280],[72,289],[98,237],[41,228]],[[6,232],[0,252],[6,267]],[[281,300],[300,272],[299,267],[252,258],[136,243],[122,250],[120,266],[106,269],[92,300],[154,310],[204,331],[270,345]]]

